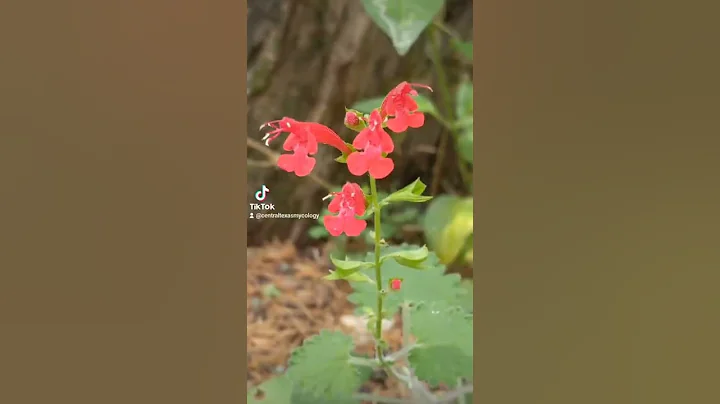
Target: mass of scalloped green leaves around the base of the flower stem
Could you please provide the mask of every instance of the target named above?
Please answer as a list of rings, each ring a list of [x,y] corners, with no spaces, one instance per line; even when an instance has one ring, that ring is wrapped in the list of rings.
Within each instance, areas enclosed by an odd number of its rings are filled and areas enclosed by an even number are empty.
[[[248,403],[360,403],[370,398],[359,390],[374,369],[387,367],[391,369],[389,373],[402,378],[403,366],[398,364],[403,361],[414,377],[429,387],[472,380],[472,284],[462,282],[457,274],[446,273],[446,267],[426,246],[404,244],[382,251],[383,278],[403,280],[401,290],[385,295],[383,317],[406,310],[403,321],[410,325],[408,331],[414,342],[399,352],[385,353],[383,365],[376,359],[353,356],[355,347],[350,336],[322,331],[293,351],[285,375],[250,391]],[[371,317],[376,315],[373,307],[377,301],[373,259],[372,253],[362,261],[334,258],[333,274],[342,275],[331,278],[349,281],[353,288],[349,300],[355,303],[358,313],[370,313]],[[423,265],[417,265],[418,262]],[[470,387],[464,385],[465,390]],[[257,398],[260,392],[261,399]],[[408,400],[407,403],[414,402]],[[436,400],[426,402],[455,402],[444,401],[443,396]]]

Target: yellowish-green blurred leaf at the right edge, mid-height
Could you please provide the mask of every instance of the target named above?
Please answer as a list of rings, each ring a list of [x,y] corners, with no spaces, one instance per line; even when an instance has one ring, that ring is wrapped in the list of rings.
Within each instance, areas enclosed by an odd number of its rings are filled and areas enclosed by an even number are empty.
[[[444,227],[437,253],[442,262],[451,263],[467,245],[468,237],[473,234],[473,199],[460,199],[453,207],[450,222]]]

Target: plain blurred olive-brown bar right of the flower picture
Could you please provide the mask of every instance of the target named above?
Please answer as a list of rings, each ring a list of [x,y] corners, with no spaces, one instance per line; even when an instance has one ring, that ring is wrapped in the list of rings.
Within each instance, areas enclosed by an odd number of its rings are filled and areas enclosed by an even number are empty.
[[[720,402],[718,5],[475,8],[474,399]]]

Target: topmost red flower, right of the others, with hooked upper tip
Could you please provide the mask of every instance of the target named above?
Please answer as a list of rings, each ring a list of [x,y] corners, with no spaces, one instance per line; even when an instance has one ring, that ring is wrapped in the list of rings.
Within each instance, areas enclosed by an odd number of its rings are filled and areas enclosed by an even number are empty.
[[[393,88],[383,100],[380,111],[383,116],[392,116],[387,126],[395,133],[405,132],[408,127],[419,128],[425,123],[425,115],[417,112],[418,106],[412,97],[418,95],[413,87],[432,88],[424,84],[411,84],[403,81]]]

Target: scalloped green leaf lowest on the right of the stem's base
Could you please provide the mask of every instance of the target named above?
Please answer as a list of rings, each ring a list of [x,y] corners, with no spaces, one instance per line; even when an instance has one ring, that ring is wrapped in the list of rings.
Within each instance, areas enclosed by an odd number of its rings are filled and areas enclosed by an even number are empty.
[[[437,301],[410,312],[411,332],[421,346],[408,356],[417,377],[432,386],[472,379],[472,316],[462,308]]]

